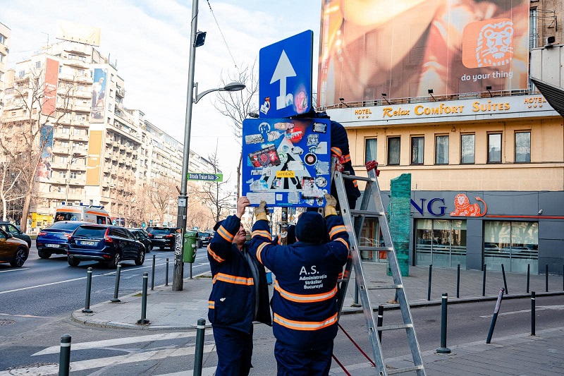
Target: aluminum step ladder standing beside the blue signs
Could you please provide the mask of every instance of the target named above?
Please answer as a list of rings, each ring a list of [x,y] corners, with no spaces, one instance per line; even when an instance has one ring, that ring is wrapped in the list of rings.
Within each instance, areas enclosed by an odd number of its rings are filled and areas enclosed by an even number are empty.
[[[370,163],[369,163],[370,164]],[[367,164],[367,168],[369,168]],[[419,342],[417,341],[417,336],[415,334],[415,327],[413,325],[413,319],[411,316],[410,306],[407,303],[407,298],[405,296],[405,290],[403,289],[403,282],[401,279],[400,267],[398,265],[398,258],[396,257],[396,250],[393,248],[392,238],[390,234],[390,228],[388,226],[388,219],[386,219],[386,214],[384,212],[384,206],[382,205],[380,186],[378,184],[377,174],[376,174],[376,162],[372,162],[374,168],[369,169],[368,177],[364,176],[353,176],[348,174],[343,174],[343,172],[337,169],[333,170],[333,181],[335,182],[335,188],[338,195],[338,202],[341,207],[341,216],[343,217],[343,222],[345,223],[345,228],[347,229],[349,242],[350,242],[350,255],[348,262],[345,266],[345,272],[343,272],[343,279],[339,286],[339,315],[343,308],[343,302],[345,300],[345,293],[348,287],[348,281],[350,279],[351,267],[355,268],[355,278],[358,284],[358,292],[360,296],[360,303],[362,304],[362,310],[364,312],[364,317],[367,322],[367,329],[369,335],[370,345],[372,346],[372,353],[374,355],[374,363],[376,363],[376,375],[394,375],[403,372],[417,372],[417,376],[425,376],[425,372],[421,349],[419,348]],[[362,202],[360,204],[360,210],[350,210],[348,206],[347,194],[345,191],[345,179],[346,180],[356,180],[365,181],[366,188],[364,189],[364,195],[362,196]],[[369,202],[373,200],[376,211],[368,211]],[[364,247],[358,245],[358,238],[360,237],[360,231],[362,230],[362,225],[364,224],[365,218],[376,218],[381,229],[382,236],[384,237],[384,247]],[[353,221],[353,218],[355,220]],[[362,260],[360,257],[360,252],[362,250],[372,250],[372,251],[384,251],[388,255],[388,262],[390,264],[391,274],[393,277],[393,284],[381,284],[377,286],[367,286],[364,280],[364,272],[362,269]],[[377,326],[376,320],[374,320],[374,310],[370,303],[370,298],[368,296],[369,289],[395,289],[398,297],[398,302],[400,305],[401,315],[403,317],[403,325],[384,325]],[[386,369],[384,364],[384,356],[382,355],[381,341],[379,340],[378,332],[384,330],[397,330],[405,329],[407,332],[407,341],[410,345],[410,350],[413,358],[413,365],[406,368],[398,369]]]

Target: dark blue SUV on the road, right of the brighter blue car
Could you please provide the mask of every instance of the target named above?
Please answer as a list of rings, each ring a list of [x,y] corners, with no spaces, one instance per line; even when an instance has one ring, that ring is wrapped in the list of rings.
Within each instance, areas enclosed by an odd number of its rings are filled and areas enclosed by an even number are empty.
[[[119,262],[145,262],[145,245],[120,226],[81,224],[68,238],[68,265],[78,266],[82,260],[105,262],[115,269]]]

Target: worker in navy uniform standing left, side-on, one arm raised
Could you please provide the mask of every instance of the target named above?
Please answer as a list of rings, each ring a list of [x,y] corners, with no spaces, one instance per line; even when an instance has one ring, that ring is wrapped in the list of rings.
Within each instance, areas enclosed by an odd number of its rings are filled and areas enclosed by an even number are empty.
[[[264,266],[255,253],[249,252],[247,233],[241,224],[248,205],[247,198],[239,198],[236,214],[216,224],[216,233],[207,247],[214,284],[208,319],[216,343],[216,376],[249,375],[252,322],[272,325]],[[269,234],[263,235],[267,238]]]

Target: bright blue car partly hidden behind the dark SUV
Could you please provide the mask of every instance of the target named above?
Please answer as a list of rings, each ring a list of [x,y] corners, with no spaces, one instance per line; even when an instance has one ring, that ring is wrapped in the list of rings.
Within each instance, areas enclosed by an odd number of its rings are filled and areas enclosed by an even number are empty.
[[[51,224],[47,229],[39,231],[37,239],[35,239],[37,255],[41,258],[49,258],[53,254],[66,255],[68,237],[82,224],[88,224],[88,222],[60,221]]]

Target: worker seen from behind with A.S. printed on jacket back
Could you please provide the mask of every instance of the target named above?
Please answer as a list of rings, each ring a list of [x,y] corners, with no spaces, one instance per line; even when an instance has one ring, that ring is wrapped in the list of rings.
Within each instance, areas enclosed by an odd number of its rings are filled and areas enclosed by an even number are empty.
[[[329,375],[337,334],[337,279],[347,261],[348,234],[336,215],[336,200],[325,196],[325,219],[317,212],[300,215],[296,243],[273,244],[266,203],[255,209],[251,248],[275,274],[271,301],[278,376]],[[329,235],[329,242],[325,242]]]

